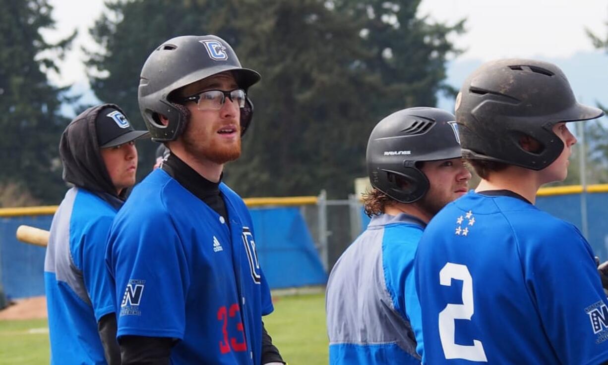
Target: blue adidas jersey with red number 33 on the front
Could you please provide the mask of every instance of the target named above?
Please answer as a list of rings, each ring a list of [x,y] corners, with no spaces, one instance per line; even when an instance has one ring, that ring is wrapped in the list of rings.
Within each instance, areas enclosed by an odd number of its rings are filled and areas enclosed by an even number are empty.
[[[117,336],[179,339],[171,364],[261,361],[272,312],[243,200],[219,190],[229,222],[162,169],[117,214],[106,262],[116,282]]]

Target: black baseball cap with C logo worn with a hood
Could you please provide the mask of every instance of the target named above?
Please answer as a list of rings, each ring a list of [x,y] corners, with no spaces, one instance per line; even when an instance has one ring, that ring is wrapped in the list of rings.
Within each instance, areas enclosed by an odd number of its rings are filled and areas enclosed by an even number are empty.
[[[136,131],[125,114],[116,107],[103,108],[95,118],[99,148],[108,148],[149,137],[148,131]]]

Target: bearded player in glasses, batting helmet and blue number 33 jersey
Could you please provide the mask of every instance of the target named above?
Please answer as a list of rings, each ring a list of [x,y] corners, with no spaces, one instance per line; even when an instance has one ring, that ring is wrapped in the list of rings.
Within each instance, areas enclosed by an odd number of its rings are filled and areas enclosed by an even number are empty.
[[[283,364],[262,323],[273,307],[249,211],[221,182],[259,80],[213,35],[169,39],[143,65],[140,111],[170,154],[109,237],[123,364]]]

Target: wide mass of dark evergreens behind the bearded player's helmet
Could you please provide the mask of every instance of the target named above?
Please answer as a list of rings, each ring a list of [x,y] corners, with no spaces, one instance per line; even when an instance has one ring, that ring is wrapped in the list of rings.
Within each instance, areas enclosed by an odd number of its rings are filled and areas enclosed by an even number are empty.
[[[92,30],[105,49],[91,54],[89,66],[97,74],[92,85],[99,98],[140,120],[137,81],[153,47],[176,35],[219,35],[244,67],[262,75],[249,90],[254,121],[243,155],[227,165],[226,182],[243,196],[327,189],[331,197],[344,197],[354,177],[365,176],[367,138],[380,118],[402,107],[435,105],[438,90],[446,89],[446,56],[457,53],[447,36],[460,32],[462,23],[429,24],[415,18],[417,6],[371,0],[117,2]],[[374,16],[368,7],[376,9]],[[145,172],[152,148],[140,149]]]

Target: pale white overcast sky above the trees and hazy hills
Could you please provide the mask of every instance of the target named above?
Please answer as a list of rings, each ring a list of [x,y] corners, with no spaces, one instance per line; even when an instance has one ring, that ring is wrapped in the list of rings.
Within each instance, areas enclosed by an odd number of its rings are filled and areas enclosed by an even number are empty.
[[[80,46],[91,44],[88,29],[103,12],[103,0],[50,0],[56,30],[45,32],[50,41],[79,30],[61,75],[49,75],[52,83],[88,87]],[[464,35],[455,38],[466,49],[458,60],[491,60],[500,57],[568,58],[593,51],[585,34],[588,28],[606,36],[606,0],[422,0],[420,15],[454,24],[467,18]]]

